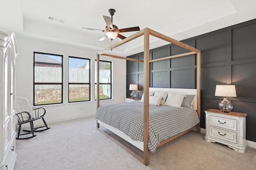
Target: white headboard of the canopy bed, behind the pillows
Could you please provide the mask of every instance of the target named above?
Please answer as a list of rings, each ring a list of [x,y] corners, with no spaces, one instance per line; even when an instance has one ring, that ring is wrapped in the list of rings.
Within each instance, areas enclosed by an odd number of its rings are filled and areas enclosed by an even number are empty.
[[[154,88],[150,87],[149,91],[161,91],[161,92],[172,92],[172,93],[179,93],[179,94],[197,94],[197,89],[191,89],[191,88]],[[192,107],[196,109],[196,96],[193,100]]]

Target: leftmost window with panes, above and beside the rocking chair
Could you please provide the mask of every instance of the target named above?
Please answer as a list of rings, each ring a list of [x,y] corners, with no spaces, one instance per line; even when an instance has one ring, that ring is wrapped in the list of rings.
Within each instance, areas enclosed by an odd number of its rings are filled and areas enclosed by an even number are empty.
[[[63,103],[63,56],[34,52],[34,106]]]

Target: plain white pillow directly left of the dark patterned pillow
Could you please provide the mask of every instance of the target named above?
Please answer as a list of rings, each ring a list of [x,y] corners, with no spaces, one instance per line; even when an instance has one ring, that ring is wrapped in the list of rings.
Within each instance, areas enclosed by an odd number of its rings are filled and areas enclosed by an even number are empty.
[[[164,105],[180,107],[185,96],[186,94],[168,92],[168,97]]]

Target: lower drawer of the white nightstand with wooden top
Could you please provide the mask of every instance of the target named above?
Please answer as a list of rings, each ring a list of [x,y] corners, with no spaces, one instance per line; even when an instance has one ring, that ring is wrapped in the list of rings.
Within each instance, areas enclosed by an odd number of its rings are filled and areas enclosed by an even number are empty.
[[[237,143],[236,132],[225,131],[224,129],[218,129],[209,126],[209,136],[222,139],[228,142]]]

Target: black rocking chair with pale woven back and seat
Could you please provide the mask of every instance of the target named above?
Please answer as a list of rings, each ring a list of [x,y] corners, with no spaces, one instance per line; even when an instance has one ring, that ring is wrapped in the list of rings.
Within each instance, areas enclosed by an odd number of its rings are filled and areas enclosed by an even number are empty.
[[[44,120],[44,115],[46,113],[46,109],[44,107],[32,109],[32,107],[30,106],[26,98],[16,96],[15,109],[16,109],[16,117],[18,121],[17,124],[19,125],[18,135],[16,139],[30,139],[32,137],[36,137],[36,135],[34,135],[34,132],[42,132],[50,129],[50,127],[47,126],[46,121]],[[43,120],[44,126],[34,127],[33,121],[38,119]],[[23,130],[26,133],[20,134],[21,125],[25,123],[30,123],[30,130]],[[39,128],[44,128],[44,129],[38,130]],[[28,135],[28,134],[32,134],[32,136],[20,138],[20,135]]]

